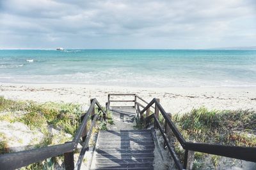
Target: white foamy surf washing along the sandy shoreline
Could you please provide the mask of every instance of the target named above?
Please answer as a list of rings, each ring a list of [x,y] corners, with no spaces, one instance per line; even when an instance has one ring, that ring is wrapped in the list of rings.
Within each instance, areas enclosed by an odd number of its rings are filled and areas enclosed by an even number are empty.
[[[50,75],[13,75],[8,81],[16,83],[70,83],[85,85],[113,85],[118,87],[256,87],[256,82],[203,80],[150,74],[125,73],[110,69],[87,73]],[[1,74],[0,74],[1,76]],[[4,76],[4,75],[3,75]],[[9,75],[11,76],[11,75]],[[0,77],[0,81],[1,81]],[[4,80],[3,80],[4,81]]]

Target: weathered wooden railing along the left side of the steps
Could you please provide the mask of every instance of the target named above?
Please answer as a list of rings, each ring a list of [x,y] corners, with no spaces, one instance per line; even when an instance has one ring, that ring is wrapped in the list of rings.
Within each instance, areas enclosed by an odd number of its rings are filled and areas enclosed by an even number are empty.
[[[102,116],[95,113],[95,105],[97,105],[99,111],[102,111]],[[90,128],[87,129],[90,116],[92,118],[92,123]],[[0,155],[0,169],[17,169],[19,167],[28,166],[29,164],[40,162],[58,155],[64,155],[65,169],[74,169],[74,150],[77,148],[77,145],[82,138],[83,147],[76,163],[76,169],[80,169],[83,162],[84,153],[89,148],[89,140],[92,134],[92,129],[95,126],[95,122],[98,118],[103,118],[106,120],[106,112],[102,109],[97,99],[91,99],[90,107],[88,108],[88,111],[86,111],[86,113],[81,117],[81,125],[77,129],[76,136],[74,136],[72,141],[60,145],[46,146],[22,152],[13,152]]]

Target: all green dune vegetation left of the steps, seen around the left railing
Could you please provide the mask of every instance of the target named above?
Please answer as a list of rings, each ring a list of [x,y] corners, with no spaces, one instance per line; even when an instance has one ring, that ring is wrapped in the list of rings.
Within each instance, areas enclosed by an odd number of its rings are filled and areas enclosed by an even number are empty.
[[[33,145],[33,148],[57,145],[70,141],[70,135],[74,136],[77,128],[81,124],[81,115],[83,113],[84,111],[79,104],[13,101],[0,96],[0,121],[11,123],[22,122],[28,125],[29,129],[37,130],[44,134],[42,139],[35,139],[38,140],[38,143]],[[95,113],[102,117],[102,111],[95,109]],[[89,118],[87,124],[88,129],[91,124],[92,120]],[[93,132],[108,130],[107,124],[114,124],[110,111],[107,112],[106,121],[97,121]],[[49,129],[54,129],[58,134],[52,134]],[[10,152],[6,136],[0,134],[0,139],[0,154]],[[46,159],[43,162],[31,164],[21,169],[53,169],[54,164],[58,161],[63,162],[63,156]]]

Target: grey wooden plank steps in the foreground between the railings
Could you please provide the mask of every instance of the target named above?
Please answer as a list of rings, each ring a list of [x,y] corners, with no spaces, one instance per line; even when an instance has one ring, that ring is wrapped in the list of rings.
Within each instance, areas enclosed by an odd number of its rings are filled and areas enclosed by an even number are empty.
[[[150,130],[100,131],[91,169],[154,169]]]

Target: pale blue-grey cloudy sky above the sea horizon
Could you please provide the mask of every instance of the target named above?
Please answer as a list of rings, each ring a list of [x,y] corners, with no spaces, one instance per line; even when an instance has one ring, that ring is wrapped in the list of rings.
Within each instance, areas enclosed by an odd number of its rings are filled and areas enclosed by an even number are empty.
[[[0,0],[0,48],[256,46],[255,0]]]

